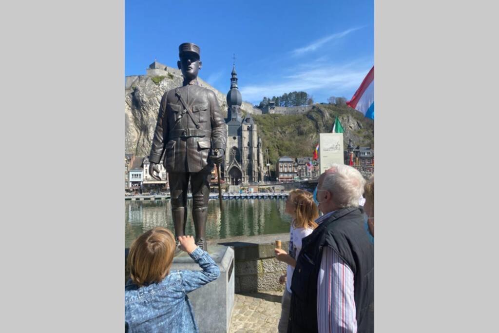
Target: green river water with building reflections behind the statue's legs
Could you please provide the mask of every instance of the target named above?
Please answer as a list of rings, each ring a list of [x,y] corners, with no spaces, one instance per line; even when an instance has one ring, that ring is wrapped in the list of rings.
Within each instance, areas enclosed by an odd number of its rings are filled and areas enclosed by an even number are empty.
[[[224,201],[224,213],[218,200],[208,203],[206,236],[222,239],[235,236],[277,234],[289,231],[291,219],[284,214],[283,199],[232,199]],[[151,228],[162,226],[173,231],[171,205],[164,201],[125,201],[125,247]],[[186,232],[194,235],[192,200],[188,201]]]

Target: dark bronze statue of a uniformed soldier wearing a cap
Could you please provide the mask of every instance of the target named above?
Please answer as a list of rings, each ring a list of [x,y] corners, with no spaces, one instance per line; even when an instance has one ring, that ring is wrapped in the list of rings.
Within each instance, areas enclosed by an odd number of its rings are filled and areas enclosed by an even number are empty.
[[[182,87],[161,98],[158,121],[149,155],[149,174],[160,180],[157,164],[163,154],[170,182],[175,236],[185,235],[189,179],[193,196],[192,217],[196,244],[207,250],[206,220],[211,170],[224,160],[227,128],[215,93],[198,84],[200,48],[193,43],[179,46]],[[217,152],[217,153],[215,153]]]

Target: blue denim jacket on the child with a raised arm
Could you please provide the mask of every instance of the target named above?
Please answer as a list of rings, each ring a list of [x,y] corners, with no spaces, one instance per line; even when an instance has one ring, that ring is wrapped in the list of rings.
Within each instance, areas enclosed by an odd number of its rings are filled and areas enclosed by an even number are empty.
[[[216,280],[220,269],[201,248],[190,256],[202,271],[171,271],[160,283],[140,288],[128,280],[125,332],[199,332],[187,294]]]

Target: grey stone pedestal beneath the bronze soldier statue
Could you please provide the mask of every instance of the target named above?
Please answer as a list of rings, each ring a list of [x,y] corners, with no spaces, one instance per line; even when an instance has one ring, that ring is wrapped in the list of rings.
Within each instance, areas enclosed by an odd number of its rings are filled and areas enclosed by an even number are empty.
[[[220,268],[220,276],[188,296],[200,332],[229,332],[234,308],[234,250],[218,244],[209,244],[208,250]],[[200,271],[201,268],[182,252],[174,258],[171,270]]]

